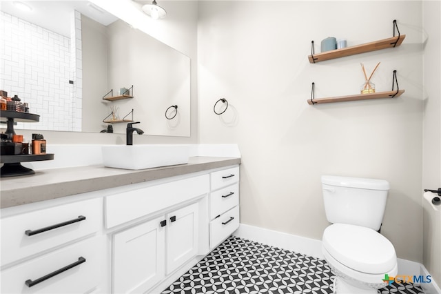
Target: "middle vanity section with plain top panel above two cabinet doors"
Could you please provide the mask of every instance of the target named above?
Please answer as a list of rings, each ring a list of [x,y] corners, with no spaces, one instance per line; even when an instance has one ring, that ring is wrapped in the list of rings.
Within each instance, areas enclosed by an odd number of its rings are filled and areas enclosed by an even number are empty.
[[[199,210],[208,193],[206,174],[105,197],[112,293],[145,293],[198,255],[200,228],[208,226]]]

